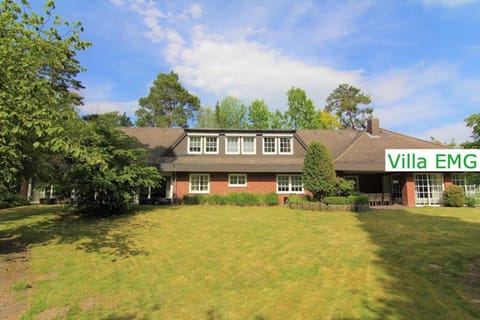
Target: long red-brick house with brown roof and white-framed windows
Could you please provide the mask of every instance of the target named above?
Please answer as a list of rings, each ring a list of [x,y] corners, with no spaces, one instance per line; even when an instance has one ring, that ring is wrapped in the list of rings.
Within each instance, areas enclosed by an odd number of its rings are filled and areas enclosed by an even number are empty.
[[[143,199],[174,200],[189,194],[275,192],[281,201],[304,195],[303,158],[321,141],[335,160],[337,175],[355,181],[363,193],[388,193],[405,206],[439,205],[451,183],[465,186],[462,173],[387,173],[385,149],[439,149],[441,146],[380,128],[367,130],[250,130],[123,128],[150,151],[163,177]],[[465,186],[467,188],[467,186]],[[468,190],[467,190],[468,191]]]

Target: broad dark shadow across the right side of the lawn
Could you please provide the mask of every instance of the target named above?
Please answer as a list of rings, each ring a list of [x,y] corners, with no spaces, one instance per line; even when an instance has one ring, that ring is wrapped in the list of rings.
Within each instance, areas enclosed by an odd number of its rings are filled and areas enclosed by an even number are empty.
[[[414,210],[357,217],[378,248],[374,263],[383,270],[376,275],[383,298],[364,302],[368,318],[480,318],[480,288],[468,279],[480,259],[480,223]]]

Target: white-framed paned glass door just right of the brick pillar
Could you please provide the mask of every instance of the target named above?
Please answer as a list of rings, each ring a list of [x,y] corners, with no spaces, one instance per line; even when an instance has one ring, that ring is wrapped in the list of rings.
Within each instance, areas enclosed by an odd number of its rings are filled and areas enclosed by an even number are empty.
[[[441,173],[415,174],[415,204],[417,206],[438,206],[443,193]]]

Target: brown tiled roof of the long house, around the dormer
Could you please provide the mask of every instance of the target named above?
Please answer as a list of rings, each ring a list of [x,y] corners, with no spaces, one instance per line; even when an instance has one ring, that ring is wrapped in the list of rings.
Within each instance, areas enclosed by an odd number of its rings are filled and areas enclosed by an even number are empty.
[[[122,128],[123,132],[136,137],[148,148],[150,161],[163,172],[301,172],[303,154],[263,155],[188,155],[171,150],[181,143],[187,132],[260,132],[268,130],[219,130],[180,128]],[[275,130],[275,132],[281,132]],[[291,132],[293,131],[285,131]],[[307,147],[312,141],[323,142],[333,158],[338,171],[383,172],[385,149],[439,149],[441,145],[380,129],[372,136],[366,131],[355,130],[298,130],[297,141]],[[178,149],[178,148],[177,148]],[[181,148],[182,149],[182,148]],[[303,150],[303,148],[300,148]],[[169,152],[166,152],[170,150]]]

